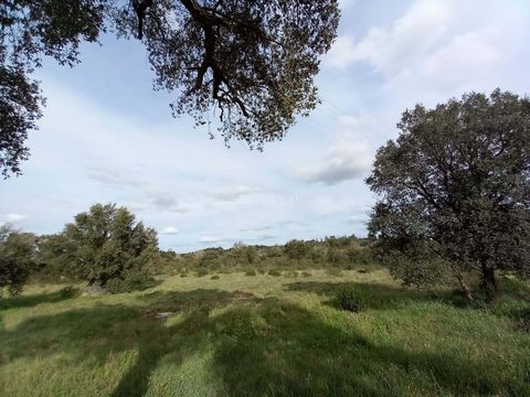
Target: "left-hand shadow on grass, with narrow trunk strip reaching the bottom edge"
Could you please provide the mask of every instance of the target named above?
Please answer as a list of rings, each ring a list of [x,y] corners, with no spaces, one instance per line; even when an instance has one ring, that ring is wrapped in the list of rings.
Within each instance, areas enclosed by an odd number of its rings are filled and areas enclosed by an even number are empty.
[[[157,314],[186,313],[189,324],[198,313],[208,316],[214,308],[254,299],[240,291],[153,292],[141,298],[141,305],[100,304],[34,316],[14,330],[0,328],[0,368],[20,357],[40,360],[55,353],[74,361],[93,361],[96,366],[105,363],[110,352],[136,348],[137,361],[113,395],[142,396],[160,357],[176,347],[171,339],[178,330],[166,326]]]

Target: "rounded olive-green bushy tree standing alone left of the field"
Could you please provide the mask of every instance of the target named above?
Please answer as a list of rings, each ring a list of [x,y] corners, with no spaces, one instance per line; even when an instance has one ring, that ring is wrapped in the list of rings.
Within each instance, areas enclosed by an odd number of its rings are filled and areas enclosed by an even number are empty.
[[[146,278],[146,268],[158,254],[156,232],[136,222],[135,215],[115,204],[95,204],[77,214],[59,236],[43,239],[43,260],[88,281],[116,287]]]

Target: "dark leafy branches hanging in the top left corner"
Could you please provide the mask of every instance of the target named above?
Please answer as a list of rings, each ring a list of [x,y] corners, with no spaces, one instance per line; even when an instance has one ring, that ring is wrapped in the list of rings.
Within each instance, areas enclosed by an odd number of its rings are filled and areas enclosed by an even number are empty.
[[[0,172],[20,174],[28,131],[36,129],[44,105],[31,74],[51,56],[77,63],[81,41],[104,31],[105,0],[4,0],[0,4]]]

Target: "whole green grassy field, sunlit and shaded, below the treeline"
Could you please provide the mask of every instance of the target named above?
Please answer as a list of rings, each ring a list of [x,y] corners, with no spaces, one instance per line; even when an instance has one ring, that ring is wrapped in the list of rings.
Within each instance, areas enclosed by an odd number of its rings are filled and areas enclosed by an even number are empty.
[[[85,298],[0,299],[1,396],[530,395],[530,287],[495,305],[383,270],[168,277]],[[362,297],[357,313],[337,290]]]

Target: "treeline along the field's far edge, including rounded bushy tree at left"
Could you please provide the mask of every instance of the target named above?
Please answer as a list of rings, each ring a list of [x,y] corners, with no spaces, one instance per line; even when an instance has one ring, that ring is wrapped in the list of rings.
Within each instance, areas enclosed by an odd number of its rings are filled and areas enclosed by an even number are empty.
[[[0,292],[6,288],[11,294],[31,281],[84,281],[126,292],[153,286],[153,277],[162,273],[368,269],[374,261],[370,242],[353,235],[275,246],[236,243],[179,255],[159,249],[157,233],[115,204],[95,204],[53,235],[0,227]]]

